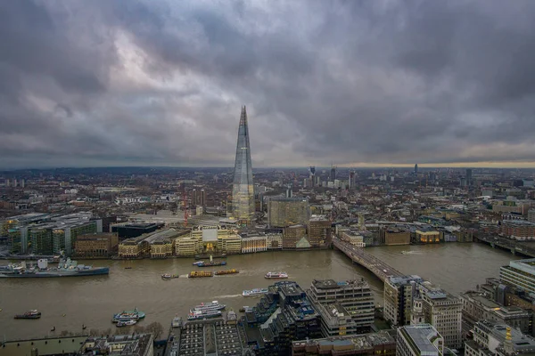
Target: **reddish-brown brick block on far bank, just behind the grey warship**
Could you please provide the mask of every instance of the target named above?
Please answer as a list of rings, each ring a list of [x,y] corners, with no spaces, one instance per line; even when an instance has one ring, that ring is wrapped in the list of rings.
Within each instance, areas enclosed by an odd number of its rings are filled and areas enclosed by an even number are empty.
[[[117,253],[119,238],[110,232],[78,235],[74,249],[78,257],[110,257]]]

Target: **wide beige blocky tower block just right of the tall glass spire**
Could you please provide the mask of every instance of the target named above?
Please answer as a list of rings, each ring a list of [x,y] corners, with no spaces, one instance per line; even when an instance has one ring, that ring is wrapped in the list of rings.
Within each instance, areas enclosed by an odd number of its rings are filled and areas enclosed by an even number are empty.
[[[268,226],[284,228],[309,222],[307,198],[273,197],[268,200]]]

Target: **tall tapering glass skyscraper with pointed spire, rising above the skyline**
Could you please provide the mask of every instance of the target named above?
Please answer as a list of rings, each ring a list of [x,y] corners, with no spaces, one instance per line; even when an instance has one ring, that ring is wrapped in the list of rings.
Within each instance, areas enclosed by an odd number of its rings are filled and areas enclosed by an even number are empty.
[[[236,146],[235,176],[232,187],[233,216],[240,225],[250,225],[254,218],[254,185],[252,183],[251,146],[247,111],[242,108]]]

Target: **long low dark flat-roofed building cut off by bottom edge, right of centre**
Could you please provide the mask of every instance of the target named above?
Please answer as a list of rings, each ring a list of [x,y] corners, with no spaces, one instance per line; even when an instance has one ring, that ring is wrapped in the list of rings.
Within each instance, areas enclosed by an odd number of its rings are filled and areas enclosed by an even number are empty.
[[[292,342],[292,356],[395,356],[396,340],[386,331]]]

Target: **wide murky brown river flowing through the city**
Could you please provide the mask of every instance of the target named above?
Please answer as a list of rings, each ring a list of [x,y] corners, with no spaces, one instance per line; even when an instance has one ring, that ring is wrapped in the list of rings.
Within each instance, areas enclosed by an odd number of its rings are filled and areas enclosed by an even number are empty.
[[[459,294],[498,277],[499,267],[518,256],[481,244],[441,244],[432,246],[370,247],[366,251],[407,274],[417,274],[453,294]],[[265,252],[234,255],[224,268],[239,274],[206,279],[162,280],[161,274],[179,274],[199,269],[193,258],[140,261],[93,261],[109,266],[109,276],[61,279],[0,279],[0,337],[16,338],[59,335],[62,330],[86,332],[92,328],[114,328],[113,313],[137,307],[146,313],[139,325],[158,321],[168,328],[175,315],[185,316],[202,302],[218,300],[235,312],[252,306],[258,298],[244,298],[243,289],[268,287],[274,280],[264,279],[268,271],[286,271],[303,289],[312,279],[366,279],[377,304],[383,303],[383,283],[366,269],[352,264],[341,252],[302,251]],[[84,263],[78,261],[78,263]],[[130,266],[131,269],[125,269]],[[224,269],[211,268],[212,271]],[[37,309],[40,320],[13,320],[13,315]],[[55,327],[55,332],[51,329]],[[126,331],[126,330],[125,330]]]

